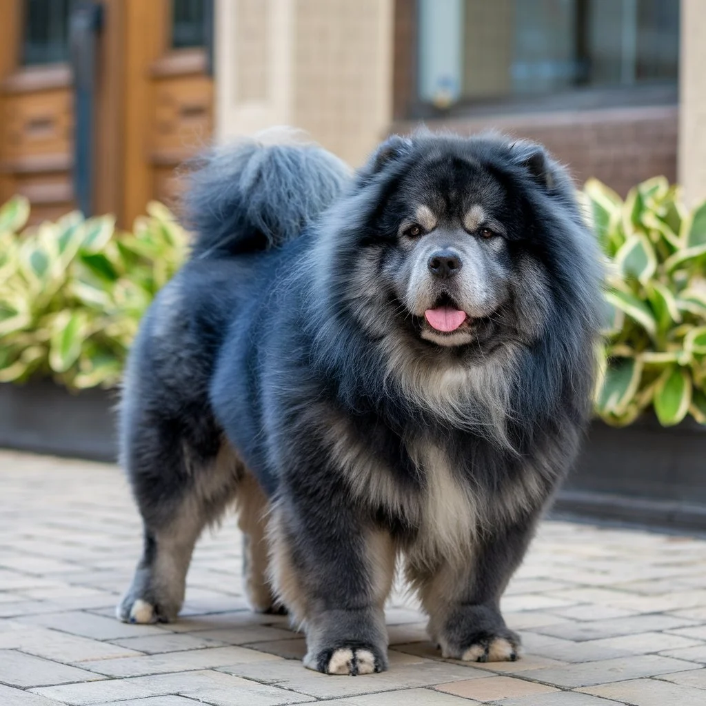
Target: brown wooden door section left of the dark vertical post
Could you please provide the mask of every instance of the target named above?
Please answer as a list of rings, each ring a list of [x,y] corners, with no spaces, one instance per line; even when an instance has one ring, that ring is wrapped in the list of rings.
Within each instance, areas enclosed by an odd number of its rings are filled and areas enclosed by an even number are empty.
[[[73,207],[70,0],[0,0],[0,202],[32,201],[32,220]]]

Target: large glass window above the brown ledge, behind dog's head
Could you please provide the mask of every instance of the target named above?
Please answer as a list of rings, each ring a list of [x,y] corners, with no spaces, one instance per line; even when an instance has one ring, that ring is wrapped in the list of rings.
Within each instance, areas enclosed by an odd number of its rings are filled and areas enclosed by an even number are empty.
[[[676,84],[678,0],[420,0],[421,99],[444,107]]]

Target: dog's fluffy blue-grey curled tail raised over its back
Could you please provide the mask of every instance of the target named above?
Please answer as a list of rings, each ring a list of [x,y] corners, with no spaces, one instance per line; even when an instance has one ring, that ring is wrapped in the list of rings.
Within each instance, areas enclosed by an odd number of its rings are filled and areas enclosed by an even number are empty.
[[[283,141],[282,138],[285,138]],[[198,157],[184,197],[192,257],[228,257],[297,237],[345,189],[344,162],[278,128]]]

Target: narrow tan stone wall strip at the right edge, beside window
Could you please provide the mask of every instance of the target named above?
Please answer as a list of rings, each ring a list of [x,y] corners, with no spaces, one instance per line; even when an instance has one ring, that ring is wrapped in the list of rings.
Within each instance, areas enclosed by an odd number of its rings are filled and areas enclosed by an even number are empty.
[[[679,180],[688,203],[706,198],[706,2],[681,0]]]

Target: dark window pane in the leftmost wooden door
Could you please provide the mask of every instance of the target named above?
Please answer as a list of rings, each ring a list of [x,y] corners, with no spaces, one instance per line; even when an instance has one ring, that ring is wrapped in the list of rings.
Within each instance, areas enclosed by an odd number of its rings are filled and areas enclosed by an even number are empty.
[[[68,60],[68,15],[72,0],[24,0],[23,64]]]

